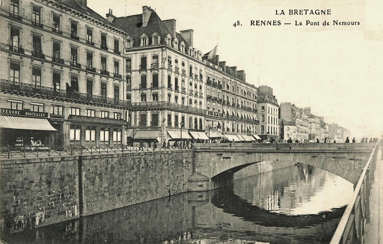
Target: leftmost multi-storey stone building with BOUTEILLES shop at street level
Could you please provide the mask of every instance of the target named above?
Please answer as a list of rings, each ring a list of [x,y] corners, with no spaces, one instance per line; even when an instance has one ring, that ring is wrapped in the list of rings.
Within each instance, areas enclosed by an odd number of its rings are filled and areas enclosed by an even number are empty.
[[[0,19],[1,144],[124,143],[128,34],[86,0],[5,0]]]

